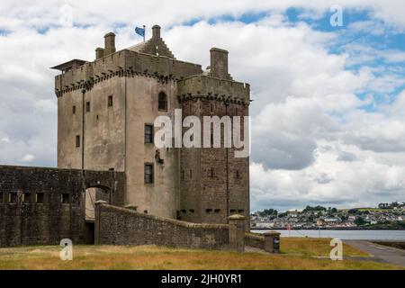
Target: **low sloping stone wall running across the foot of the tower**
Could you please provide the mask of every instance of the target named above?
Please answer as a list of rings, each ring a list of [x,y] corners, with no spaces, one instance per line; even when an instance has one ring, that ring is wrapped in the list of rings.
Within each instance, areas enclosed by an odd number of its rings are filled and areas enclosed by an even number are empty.
[[[220,248],[229,244],[229,226],[171,220],[96,203],[95,243]]]

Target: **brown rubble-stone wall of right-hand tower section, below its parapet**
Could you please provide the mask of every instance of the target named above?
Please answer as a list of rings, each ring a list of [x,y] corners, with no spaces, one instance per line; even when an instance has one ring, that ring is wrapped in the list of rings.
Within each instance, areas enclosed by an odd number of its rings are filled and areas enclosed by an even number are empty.
[[[209,98],[182,101],[183,118],[247,116],[248,106]],[[248,124],[248,123],[247,123]],[[243,135],[241,123],[241,135]],[[187,128],[188,129],[188,128]],[[184,130],[187,130],[184,129]],[[221,147],[224,146],[221,125]],[[201,139],[203,139],[203,130]],[[249,158],[235,157],[235,148],[182,148],[180,153],[180,215],[182,220],[227,223],[227,217],[246,217],[249,228]]]

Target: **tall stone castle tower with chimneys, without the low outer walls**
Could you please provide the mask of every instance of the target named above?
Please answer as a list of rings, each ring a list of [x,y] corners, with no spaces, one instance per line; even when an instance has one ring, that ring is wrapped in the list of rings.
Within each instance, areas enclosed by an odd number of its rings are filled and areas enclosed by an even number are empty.
[[[211,66],[177,60],[152,28],[152,38],[115,49],[104,36],[94,61],[55,69],[58,167],[125,172],[124,205],[192,222],[226,223],[249,215],[248,157],[234,148],[156,148],[153,123],[175,109],[195,115],[247,116],[249,85],[228,72],[228,51],[211,49]],[[247,217],[248,219],[248,217]]]

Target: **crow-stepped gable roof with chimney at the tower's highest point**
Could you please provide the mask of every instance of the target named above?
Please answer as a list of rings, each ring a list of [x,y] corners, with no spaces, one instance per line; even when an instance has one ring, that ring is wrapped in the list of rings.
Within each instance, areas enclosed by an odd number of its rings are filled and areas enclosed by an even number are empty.
[[[149,40],[131,46],[129,50],[175,59],[175,55],[173,55],[172,51],[167,47],[165,41],[160,37],[159,25],[154,25],[152,27],[152,37]]]

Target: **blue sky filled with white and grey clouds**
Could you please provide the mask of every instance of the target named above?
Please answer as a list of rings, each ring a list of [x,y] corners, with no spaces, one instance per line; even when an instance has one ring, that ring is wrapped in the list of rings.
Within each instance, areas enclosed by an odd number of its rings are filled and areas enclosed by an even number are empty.
[[[403,0],[2,0],[0,164],[56,166],[49,67],[158,23],[176,58],[206,67],[228,49],[250,83],[252,211],[405,201],[404,14]]]

